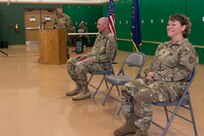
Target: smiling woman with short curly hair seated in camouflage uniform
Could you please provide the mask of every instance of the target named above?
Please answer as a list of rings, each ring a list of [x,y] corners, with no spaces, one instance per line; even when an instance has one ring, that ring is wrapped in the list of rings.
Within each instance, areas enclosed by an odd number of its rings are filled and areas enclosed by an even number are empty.
[[[116,136],[130,133],[147,136],[152,121],[152,103],[170,102],[182,96],[186,80],[198,63],[196,52],[186,39],[190,26],[185,15],[169,17],[167,34],[171,40],[158,46],[143,79],[128,82],[122,88],[126,123],[114,131]]]

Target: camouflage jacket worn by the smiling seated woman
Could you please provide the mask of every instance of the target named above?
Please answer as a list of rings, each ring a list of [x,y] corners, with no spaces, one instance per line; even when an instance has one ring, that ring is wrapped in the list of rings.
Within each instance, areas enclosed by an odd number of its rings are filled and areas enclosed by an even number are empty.
[[[155,72],[155,81],[185,81],[197,63],[196,51],[188,39],[177,43],[169,41],[157,47],[154,60],[145,74]]]

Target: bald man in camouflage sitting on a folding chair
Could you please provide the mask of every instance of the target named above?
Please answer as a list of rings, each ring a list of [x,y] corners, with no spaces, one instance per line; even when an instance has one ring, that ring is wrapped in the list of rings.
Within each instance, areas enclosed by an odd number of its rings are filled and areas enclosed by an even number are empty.
[[[92,51],[86,55],[79,55],[67,61],[67,70],[76,83],[76,88],[66,93],[72,100],[83,100],[91,97],[88,89],[87,73],[95,70],[106,70],[116,50],[116,41],[108,29],[108,19],[98,20],[97,28],[100,35],[96,38]]]

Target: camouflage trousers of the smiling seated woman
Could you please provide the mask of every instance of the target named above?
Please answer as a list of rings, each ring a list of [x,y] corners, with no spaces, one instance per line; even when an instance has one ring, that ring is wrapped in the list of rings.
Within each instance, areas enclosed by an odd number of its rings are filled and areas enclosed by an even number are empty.
[[[182,96],[185,83],[154,81],[147,83],[136,79],[126,83],[121,90],[124,116],[136,116],[135,125],[148,130],[152,121],[152,103],[169,102]]]

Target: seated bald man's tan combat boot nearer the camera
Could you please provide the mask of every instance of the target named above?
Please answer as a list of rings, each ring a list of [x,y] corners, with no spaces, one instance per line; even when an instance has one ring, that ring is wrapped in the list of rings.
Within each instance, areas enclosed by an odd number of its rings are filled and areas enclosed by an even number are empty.
[[[81,88],[81,92],[75,96],[72,97],[73,101],[79,101],[83,99],[91,98],[91,93],[88,89],[88,85]]]

